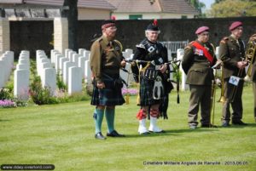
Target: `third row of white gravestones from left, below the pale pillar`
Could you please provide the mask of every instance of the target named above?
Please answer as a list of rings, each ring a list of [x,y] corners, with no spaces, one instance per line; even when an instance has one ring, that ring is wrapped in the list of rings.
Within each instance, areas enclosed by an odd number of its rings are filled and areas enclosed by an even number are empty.
[[[37,50],[37,71],[41,78],[43,88],[49,88],[50,94],[55,94],[56,89],[56,71],[52,67],[50,60],[47,58],[44,50]]]

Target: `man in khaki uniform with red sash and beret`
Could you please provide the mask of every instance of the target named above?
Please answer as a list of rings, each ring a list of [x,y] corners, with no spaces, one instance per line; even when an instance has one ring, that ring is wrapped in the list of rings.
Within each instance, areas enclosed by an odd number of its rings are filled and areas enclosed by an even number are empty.
[[[187,74],[186,83],[190,88],[189,99],[189,128],[197,127],[197,113],[201,107],[201,127],[214,127],[210,120],[212,80],[214,80],[212,66],[217,59],[214,47],[209,40],[209,28],[201,26],[196,31],[197,39],[185,48],[183,55],[183,71]]]

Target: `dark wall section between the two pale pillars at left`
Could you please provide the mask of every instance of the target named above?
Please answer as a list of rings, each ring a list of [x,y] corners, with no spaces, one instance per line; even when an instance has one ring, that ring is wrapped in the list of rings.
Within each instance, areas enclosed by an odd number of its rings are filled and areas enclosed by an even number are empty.
[[[54,25],[52,20],[10,21],[10,49],[15,52],[15,59],[20,51],[30,51],[31,58],[36,58],[36,50],[42,49],[49,54],[53,45]]]

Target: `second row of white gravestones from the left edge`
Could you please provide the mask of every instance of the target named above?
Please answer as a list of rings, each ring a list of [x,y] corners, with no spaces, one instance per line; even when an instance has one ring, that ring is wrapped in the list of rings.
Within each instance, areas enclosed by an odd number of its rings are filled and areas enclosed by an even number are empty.
[[[15,70],[14,95],[20,100],[29,98],[30,53],[22,50]]]

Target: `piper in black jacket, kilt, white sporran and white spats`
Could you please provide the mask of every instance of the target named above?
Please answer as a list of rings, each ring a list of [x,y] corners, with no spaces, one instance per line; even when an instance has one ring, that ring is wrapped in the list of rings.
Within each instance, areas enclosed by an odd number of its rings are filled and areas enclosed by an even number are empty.
[[[159,106],[165,96],[170,92],[170,87],[166,86],[169,78],[169,69],[166,47],[157,41],[160,34],[159,27],[154,20],[154,24],[149,24],[146,31],[146,38],[137,45],[133,60],[143,60],[144,62],[133,63],[131,69],[137,76],[136,81],[140,83],[140,104],[141,110],[137,114],[139,119],[139,134],[149,132],[164,133],[156,125],[160,111]],[[141,70],[139,71],[139,67]],[[139,76],[139,77],[138,77]],[[169,84],[170,85],[170,84]],[[146,128],[146,117],[149,112],[150,126]],[[148,132],[149,130],[149,132]]]

